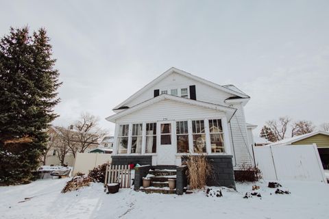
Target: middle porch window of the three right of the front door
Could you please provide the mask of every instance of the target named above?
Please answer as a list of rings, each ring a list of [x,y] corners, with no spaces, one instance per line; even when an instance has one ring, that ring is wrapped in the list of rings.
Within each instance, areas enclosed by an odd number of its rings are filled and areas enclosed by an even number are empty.
[[[206,132],[204,120],[192,121],[193,151],[194,153],[206,153]]]

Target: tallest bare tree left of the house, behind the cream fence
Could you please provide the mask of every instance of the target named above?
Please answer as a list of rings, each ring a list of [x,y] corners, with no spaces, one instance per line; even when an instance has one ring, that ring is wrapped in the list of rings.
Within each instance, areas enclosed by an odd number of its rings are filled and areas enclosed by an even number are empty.
[[[88,113],[81,114],[80,119],[74,125],[79,153],[84,153],[92,144],[98,144],[98,140],[105,136],[105,131],[99,127],[99,118]]]

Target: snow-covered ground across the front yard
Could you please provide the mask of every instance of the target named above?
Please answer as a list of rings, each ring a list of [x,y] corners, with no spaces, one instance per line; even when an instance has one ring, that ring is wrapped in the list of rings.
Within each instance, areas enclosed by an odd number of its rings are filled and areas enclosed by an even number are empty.
[[[291,194],[274,194],[276,189],[260,182],[256,192],[262,198],[243,198],[254,185],[245,183],[237,185],[238,192],[222,188],[223,197],[217,198],[202,191],[178,196],[121,189],[106,194],[101,183],[61,194],[68,180],[0,187],[0,218],[329,218],[329,185],[324,183],[281,181]]]

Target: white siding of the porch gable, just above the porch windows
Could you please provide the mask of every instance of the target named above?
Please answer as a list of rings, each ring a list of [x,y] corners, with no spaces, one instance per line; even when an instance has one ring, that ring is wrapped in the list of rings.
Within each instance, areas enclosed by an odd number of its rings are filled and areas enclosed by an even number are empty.
[[[188,120],[203,118],[218,118],[225,116],[224,112],[206,109],[187,103],[178,103],[171,100],[163,100],[154,103],[149,107],[137,110],[132,114],[123,116],[116,120],[116,123],[135,123],[143,121],[158,120]]]

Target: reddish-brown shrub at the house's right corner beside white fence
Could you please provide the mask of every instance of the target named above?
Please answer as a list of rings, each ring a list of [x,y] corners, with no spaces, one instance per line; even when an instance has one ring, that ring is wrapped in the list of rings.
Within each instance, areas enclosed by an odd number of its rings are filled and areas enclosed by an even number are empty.
[[[239,182],[255,182],[262,179],[262,172],[257,166],[242,164],[239,170],[234,171],[234,178]]]

